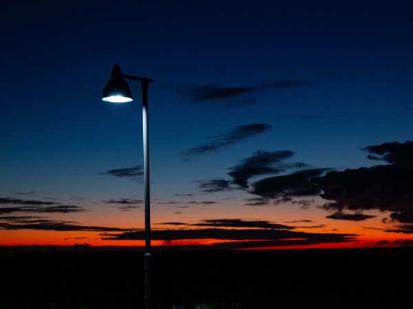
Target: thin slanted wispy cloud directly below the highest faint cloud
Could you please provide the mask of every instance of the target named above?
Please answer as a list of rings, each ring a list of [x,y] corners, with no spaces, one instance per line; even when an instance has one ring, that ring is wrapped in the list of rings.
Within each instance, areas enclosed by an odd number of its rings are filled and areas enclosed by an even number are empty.
[[[227,133],[209,137],[211,141],[193,148],[189,148],[184,151],[182,155],[184,155],[184,157],[191,157],[194,155],[204,155],[212,152],[218,152],[222,150],[222,148],[235,144],[238,141],[242,141],[243,139],[253,135],[265,133],[270,130],[270,128],[271,126],[269,124],[245,124],[242,126],[235,126]]]

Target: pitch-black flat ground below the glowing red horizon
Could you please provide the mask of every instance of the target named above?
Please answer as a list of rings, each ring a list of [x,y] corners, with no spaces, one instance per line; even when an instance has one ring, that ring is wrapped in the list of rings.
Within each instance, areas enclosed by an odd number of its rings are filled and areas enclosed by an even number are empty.
[[[156,252],[153,304],[411,308],[412,258],[407,248]],[[142,253],[1,253],[0,263],[0,308],[142,308]]]

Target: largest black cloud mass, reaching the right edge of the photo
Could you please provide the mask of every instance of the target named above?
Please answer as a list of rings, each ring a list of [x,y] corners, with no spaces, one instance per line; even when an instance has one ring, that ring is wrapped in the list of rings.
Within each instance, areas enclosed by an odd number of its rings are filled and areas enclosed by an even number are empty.
[[[323,207],[337,211],[391,211],[391,220],[383,218],[383,223],[413,223],[413,141],[363,149],[369,152],[368,158],[391,164],[332,171],[313,179],[323,191],[321,197],[329,201]],[[403,227],[394,231],[407,233]]]

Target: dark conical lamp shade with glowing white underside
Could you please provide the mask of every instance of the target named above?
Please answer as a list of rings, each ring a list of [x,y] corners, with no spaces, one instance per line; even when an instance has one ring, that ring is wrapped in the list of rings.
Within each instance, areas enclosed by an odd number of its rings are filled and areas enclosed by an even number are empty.
[[[109,82],[107,82],[105,89],[103,89],[102,100],[112,103],[126,103],[134,100],[131,89],[127,82],[125,82],[119,65],[114,65],[112,76]]]

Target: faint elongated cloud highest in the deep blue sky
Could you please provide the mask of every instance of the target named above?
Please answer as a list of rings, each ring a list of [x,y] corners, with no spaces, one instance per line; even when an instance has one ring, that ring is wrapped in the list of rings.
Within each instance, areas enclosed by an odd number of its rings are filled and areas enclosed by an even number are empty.
[[[216,84],[189,87],[184,95],[192,102],[209,103],[221,107],[235,107],[254,104],[264,91],[286,90],[306,85],[303,80],[277,80],[255,86],[224,87]]]

